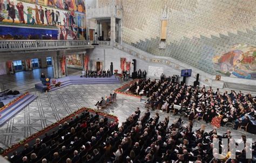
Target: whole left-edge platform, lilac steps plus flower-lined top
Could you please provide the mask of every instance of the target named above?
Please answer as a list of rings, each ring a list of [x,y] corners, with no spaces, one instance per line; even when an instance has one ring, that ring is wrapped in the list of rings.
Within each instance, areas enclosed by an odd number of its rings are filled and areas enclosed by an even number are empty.
[[[2,100],[4,107],[0,108],[0,126],[10,118],[14,117],[19,111],[29,105],[37,98],[36,95],[23,93],[18,95],[8,95],[8,98]]]

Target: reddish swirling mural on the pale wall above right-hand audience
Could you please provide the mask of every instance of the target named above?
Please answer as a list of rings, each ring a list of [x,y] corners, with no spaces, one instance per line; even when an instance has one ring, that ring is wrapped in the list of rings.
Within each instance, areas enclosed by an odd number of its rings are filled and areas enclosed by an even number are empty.
[[[213,57],[214,68],[220,74],[243,79],[256,79],[256,47],[237,44],[230,51]]]

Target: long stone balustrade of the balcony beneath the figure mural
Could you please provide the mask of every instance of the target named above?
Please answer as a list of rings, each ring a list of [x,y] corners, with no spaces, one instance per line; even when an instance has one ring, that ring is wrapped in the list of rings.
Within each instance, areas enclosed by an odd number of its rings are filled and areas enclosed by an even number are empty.
[[[0,40],[0,52],[91,46],[87,40]]]

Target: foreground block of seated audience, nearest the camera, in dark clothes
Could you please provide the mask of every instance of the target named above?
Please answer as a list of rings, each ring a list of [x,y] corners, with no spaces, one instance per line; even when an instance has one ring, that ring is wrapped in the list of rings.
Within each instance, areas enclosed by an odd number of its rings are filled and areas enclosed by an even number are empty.
[[[35,148],[26,144],[20,153],[21,157],[16,157],[17,160],[10,160],[11,162],[152,163],[254,161],[245,158],[246,148],[240,151],[235,159],[230,158],[228,149],[226,149],[227,154],[222,155],[223,159],[214,158],[218,151],[214,148],[213,141],[219,141],[220,144],[222,138],[228,138],[230,142],[234,141],[230,130],[219,135],[216,129],[205,132],[205,125],[198,130],[193,130],[192,121],[189,124],[184,124],[181,118],[178,118],[169,125],[169,117],[160,121],[157,113],[153,117],[150,115],[149,109],[140,115],[140,110],[137,108],[131,116],[127,117],[126,122],[118,127],[116,122],[108,123],[107,117],[103,119],[98,115],[90,115],[86,111],[81,116],[76,116],[76,119],[79,119],[76,127],[73,128],[66,122],[68,127],[65,130],[62,130],[65,126],[63,124],[59,127],[61,131],[53,132],[50,139],[48,134],[42,141],[37,139],[33,146]],[[80,127],[82,121],[87,123],[84,128]],[[74,129],[75,134],[69,133]],[[46,145],[43,140],[46,142],[51,140],[51,144]],[[74,145],[76,141],[79,143]],[[242,136],[241,143],[246,143],[246,136]],[[253,155],[255,155],[255,143],[252,147]],[[37,157],[40,151],[46,148],[49,148],[50,154],[45,154],[41,158]]]

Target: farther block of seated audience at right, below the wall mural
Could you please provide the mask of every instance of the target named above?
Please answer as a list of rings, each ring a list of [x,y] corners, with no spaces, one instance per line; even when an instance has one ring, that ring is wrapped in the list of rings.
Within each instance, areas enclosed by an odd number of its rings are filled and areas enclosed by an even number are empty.
[[[239,125],[250,123],[248,116],[255,117],[256,98],[241,91],[236,93],[231,90],[231,93],[225,91],[221,94],[219,89],[214,92],[211,87],[206,90],[205,86],[181,86],[166,79],[142,79],[131,84],[129,91],[149,97],[146,101],[148,108],[172,111],[174,115],[184,115],[190,121],[201,118],[208,123],[215,118],[220,120],[220,125],[235,122],[234,129],[237,129]],[[174,108],[175,105],[181,109]]]

